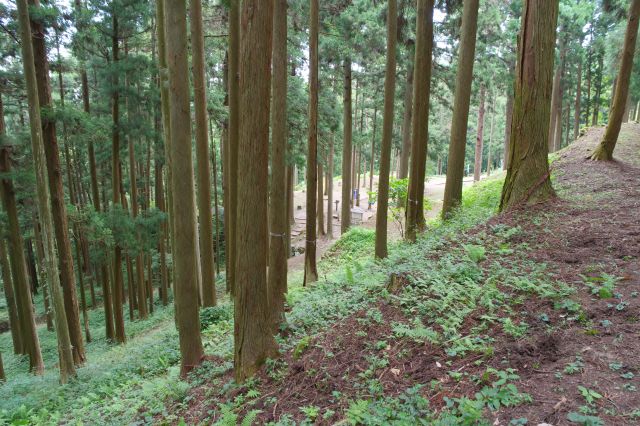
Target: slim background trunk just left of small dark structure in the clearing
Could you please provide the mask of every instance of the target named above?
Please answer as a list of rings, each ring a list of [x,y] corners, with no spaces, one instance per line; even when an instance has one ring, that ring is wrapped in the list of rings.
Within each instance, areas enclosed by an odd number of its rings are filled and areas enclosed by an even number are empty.
[[[340,213],[340,231],[345,233],[351,227],[351,136],[353,133],[353,118],[351,116],[351,58],[346,58],[344,71],[344,107],[342,141],[342,207]]]

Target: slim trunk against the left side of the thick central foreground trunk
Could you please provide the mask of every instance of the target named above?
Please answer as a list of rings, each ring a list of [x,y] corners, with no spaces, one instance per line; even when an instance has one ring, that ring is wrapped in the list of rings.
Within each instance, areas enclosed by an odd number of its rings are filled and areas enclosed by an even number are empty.
[[[229,221],[229,238],[227,240],[227,256],[229,256],[229,270],[227,271],[227,291],[235,294],[237,244],[238,244],[238,144],[240,132],[240,0],[230,0],[229,8],[229,135],[228,160],[229,207],[225,209],[225,220]],[[266,35],[265,35],[266,36]]]

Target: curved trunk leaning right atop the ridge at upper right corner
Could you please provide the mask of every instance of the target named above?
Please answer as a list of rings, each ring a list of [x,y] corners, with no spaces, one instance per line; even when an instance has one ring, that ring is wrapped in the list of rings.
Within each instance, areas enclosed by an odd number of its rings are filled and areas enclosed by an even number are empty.
[[[624,46],[622,48],[622,58],[616,83],[613,105],[609,112],[609,124],[604,133],[604,137],[598,147],[591,155],[592,160],[611,160],[613,150],[618,141],[622,117],[624,116],[627,97],[629,96],[629,81],[631,80],[631,70],[633,68],[633,54],[636,49],[636,39],[638,37],[638,18],[640,16],[640,0],[633,0],[629,7],[629,21],[627,31],[624,36]]]

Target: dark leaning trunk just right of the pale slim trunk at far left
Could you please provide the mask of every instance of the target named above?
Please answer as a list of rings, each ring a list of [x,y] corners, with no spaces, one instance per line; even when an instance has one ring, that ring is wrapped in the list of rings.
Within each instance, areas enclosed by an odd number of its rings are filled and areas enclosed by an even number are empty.
[[[35,8],[40,7],[39,0],[30,0],[29,4]],[[42,23],[32,20],[31,31],[40,108],[53,112],[53,100],[51,98],[51,83],[49,78],[47,50],[45,47],[44,27]],[[62,186],[62,170],[60,166],[58,140],[56,136],[56,123],[55,119],[51,118],[51,114],[45,114],[45,118],[41,121],[41,124],[50,195],[50,197],[47,198],[51,202],[51,208],[49,211],[52,213],[53,229],[55,231],[55,240],[57,242],[58,259],[56,259],[56,261],[59,260],[60,263],[60,282],[62,284],[62,291],[64,295],[64,312],[66,313],[68,331],[71,336],[71,345],[73,346],[73,360],[77,365],[80,365],[86,360],[86,354],[82,338],[82,327],[80,325],[80,311],[76,295],[75,275],[73,272],[73,256],[71,252],[71,241],[69,239],[69,225],[64,200],[64,189]],[[43,182],[47,182],[47,180]],[[44,237],[45,239],[47,238],[46,235],[44,235]],[[45,256],[46,250],[47,248],[45,243]]]

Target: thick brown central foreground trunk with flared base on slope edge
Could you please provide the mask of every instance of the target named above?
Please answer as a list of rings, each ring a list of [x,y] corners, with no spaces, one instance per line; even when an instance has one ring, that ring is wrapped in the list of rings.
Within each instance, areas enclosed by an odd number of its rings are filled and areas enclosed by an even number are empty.
[[[239,119],[243,125],[238,139],[238,164],[247,169],[238,174],[234,367],[236,381],[243,383],[268,358],[278,355],[269,311],[265,255],[273,2],[244,0],[240,26]]]

